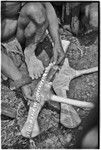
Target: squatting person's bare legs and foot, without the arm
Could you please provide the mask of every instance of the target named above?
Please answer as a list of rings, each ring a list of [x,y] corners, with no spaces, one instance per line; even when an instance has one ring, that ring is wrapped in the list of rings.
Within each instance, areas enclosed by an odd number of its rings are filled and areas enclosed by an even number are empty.
[[[16,37],[24,50],[25,62],[30,77],[38,78],[44,70],[42,62],[35,56],[36,45],[42,41],[48,27],[45,7],[42,3],[27,2],[19,11],[18,19],[2,21],[2,40]]]

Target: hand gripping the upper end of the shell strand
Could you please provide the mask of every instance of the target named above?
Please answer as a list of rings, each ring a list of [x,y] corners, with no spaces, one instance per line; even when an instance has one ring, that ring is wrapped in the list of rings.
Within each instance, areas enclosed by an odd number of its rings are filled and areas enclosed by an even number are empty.
[[[53,56],[54,62],[56,64],[59,64],[62,61],[62,59],[64,58],[64,51],[63,51],[62,46],[54,45],[53,53],[54,53],[54,56]]]

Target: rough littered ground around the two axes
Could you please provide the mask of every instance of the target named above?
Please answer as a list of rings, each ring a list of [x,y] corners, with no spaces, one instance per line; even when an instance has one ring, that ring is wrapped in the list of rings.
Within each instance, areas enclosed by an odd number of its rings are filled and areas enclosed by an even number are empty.
[[[51,50],[48,40],[43,44],[41,43],[39,49],[41,49],[41,46],[43,49]],[[80,51],[75,48],[72,42],[67,57],[70,66],[74,69],[98,66],[98,46],[96,42],[88,48],[84,46],[83,56],[81,57]],[[37,81],[34,82],[37,83]],[[80,141],[84,133],[98,122],[98,73],[83,75],[70,82],[69,98],[93,102],[96,105],[93,110],[75,107],[82,120],[81,124],[74,129],[65,128],[59,122],[60,104],[46,102],[38,117],[41,134],[33,138],[32,142],[18,134],[28,113],[28,107],[25,107],[21,91],[10,91],[7,82],[3,82],[1,92],[1,101],[9,104],[17,112],[15,119],[2,116],[1,143],[3,149],[80,148]]]

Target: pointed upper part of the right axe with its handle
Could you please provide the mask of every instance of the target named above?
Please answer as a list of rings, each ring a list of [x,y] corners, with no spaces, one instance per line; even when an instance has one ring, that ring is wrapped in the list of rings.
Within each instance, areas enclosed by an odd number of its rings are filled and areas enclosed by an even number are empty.
[[[94,73],[97,71],[98,67],[84,70],[74,70],[69,66],[68,59],[66,58],[61,70],[58,74],[56,74],[56,77],[53,81],[53,88],[55,91],[57,91],[57,89],[69,90],[69,83],[73,78],[79,77],[84,74]]]

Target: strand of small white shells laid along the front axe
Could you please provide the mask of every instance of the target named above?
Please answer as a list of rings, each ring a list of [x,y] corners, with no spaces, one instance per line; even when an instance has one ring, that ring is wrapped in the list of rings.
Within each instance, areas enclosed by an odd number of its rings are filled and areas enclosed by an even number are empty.
[[[50,69],[53,67],[53,65],[54,63],[50,63],[49,66],[45,69],[45,72],[41,78],[41,81],[39,82],[37,89],[35,90],[34,97],[33,97],[34,102],[30,104],[27,120],[21,130],[21,134],[24,137],[28,137],[28,138],[33,137],[32,136],[33,128],[36,128],[36,133],[34,134],[34,136],[39,134],[39,127],[37,126],[35,127],[35,125],[38,125],[37,117],[42,106],[44,105],[44,101],[41,100],[40,92],[44,86],[47,75]]]

